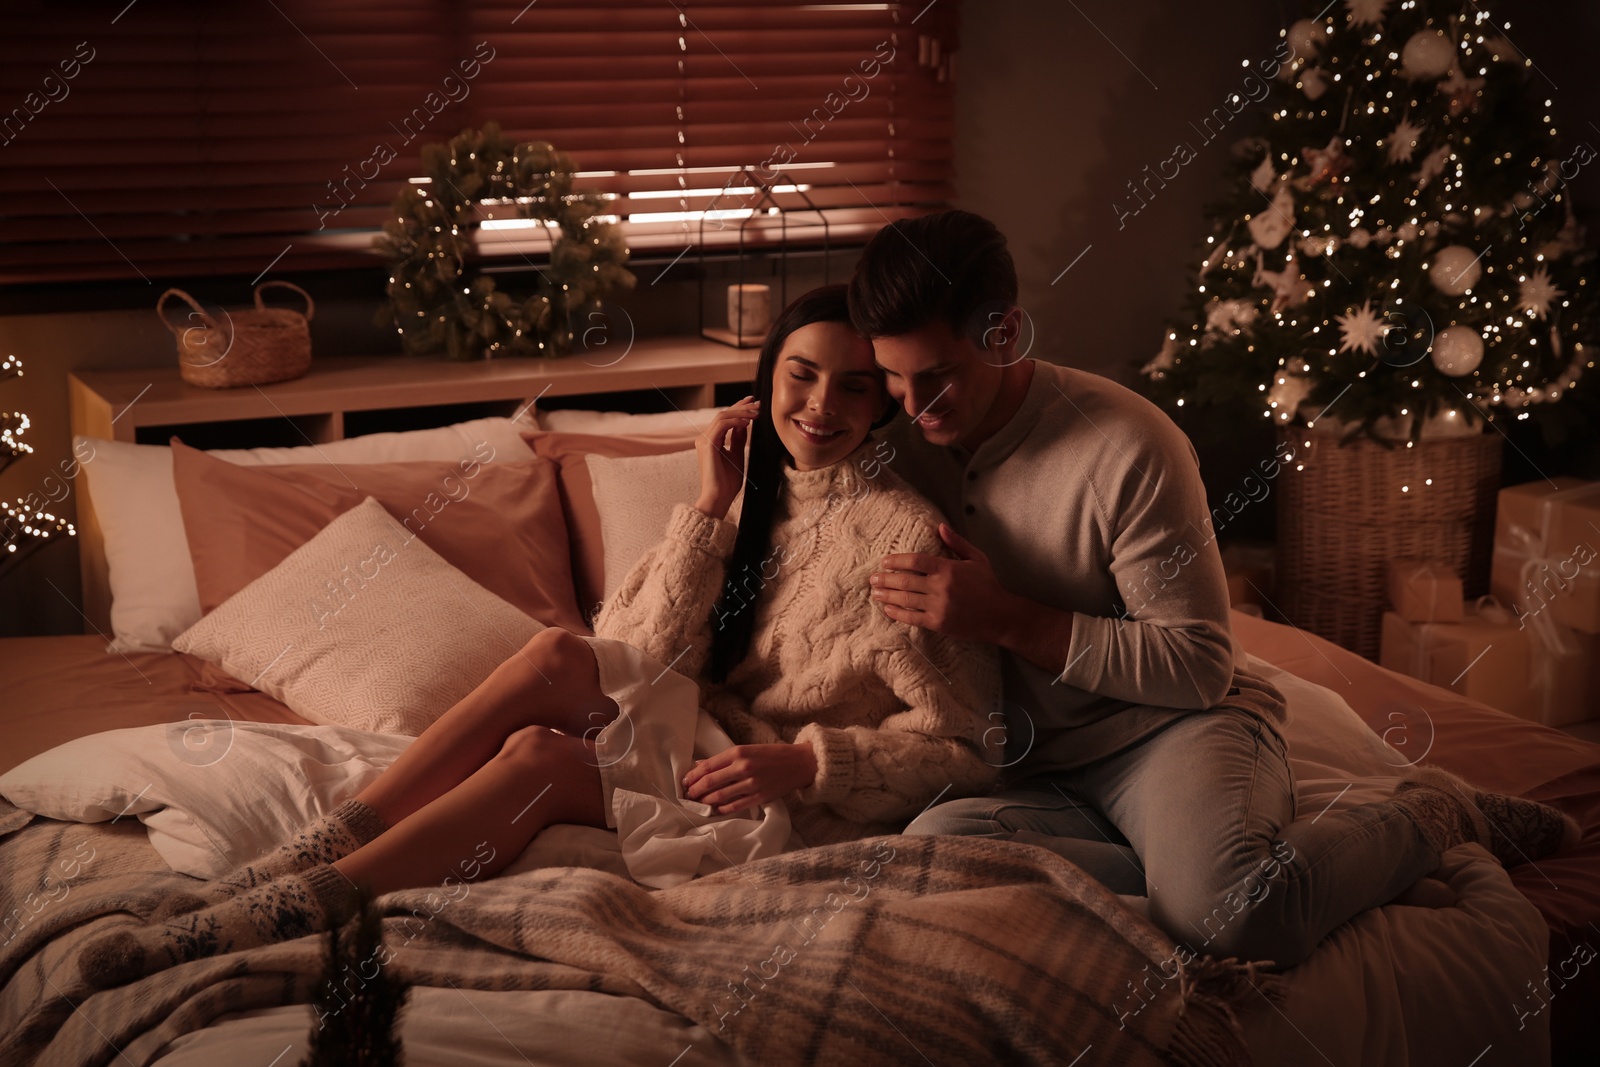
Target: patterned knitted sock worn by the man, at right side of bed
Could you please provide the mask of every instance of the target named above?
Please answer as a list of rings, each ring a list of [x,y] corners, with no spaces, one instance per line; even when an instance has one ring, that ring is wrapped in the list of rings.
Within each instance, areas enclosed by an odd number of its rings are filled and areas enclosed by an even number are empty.
[[[1395,787],[1394,803],[1440,853],[1466,841],[1515,867],[1571,848],[1578,822],[1536,800],[1491,793],[1437,766],[1411,769]]]

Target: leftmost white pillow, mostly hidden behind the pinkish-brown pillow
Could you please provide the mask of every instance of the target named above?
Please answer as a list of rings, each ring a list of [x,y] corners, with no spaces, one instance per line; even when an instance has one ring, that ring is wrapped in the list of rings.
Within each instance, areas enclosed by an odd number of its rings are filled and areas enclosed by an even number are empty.
[[[83,475],[106,542],[112,593],[110,651],[170,651],[173,638],[200,619],[200,593],[173,486],[173,453],[165,445],[75,437],[75,454],[85,454],[83,442],[93,448]],[[485,459],[486,453],[491,459]],[[326,445],[216,450],[210,454],[243,466],[533,459],[533,450],[510,419],[474,419],[406,434],[368,434]]]

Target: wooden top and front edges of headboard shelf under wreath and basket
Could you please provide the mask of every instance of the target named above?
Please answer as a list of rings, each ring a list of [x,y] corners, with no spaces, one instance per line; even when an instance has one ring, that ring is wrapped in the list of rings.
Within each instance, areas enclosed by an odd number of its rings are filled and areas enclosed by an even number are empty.
[[[710,406],[723,382],[755,379],[757,352],[702,338],[650,338],[613,355],[451,363],[418,357],[318,357],[304,378],[269,386],[202,389],[176,366],[69,374],[72,432],[117,442],[141,429],[285,418],[312,442],[344,437],[354,411],[501,403],[506,414],[534,397],[661,390],[678,408]]]

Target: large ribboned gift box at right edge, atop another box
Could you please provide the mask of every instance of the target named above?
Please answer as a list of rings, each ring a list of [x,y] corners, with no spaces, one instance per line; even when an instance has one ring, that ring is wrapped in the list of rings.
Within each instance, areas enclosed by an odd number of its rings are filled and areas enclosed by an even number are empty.
[[[1490,592],[1518,616],[1600,633],[1600,482],[1552,478],[1499,493]]]

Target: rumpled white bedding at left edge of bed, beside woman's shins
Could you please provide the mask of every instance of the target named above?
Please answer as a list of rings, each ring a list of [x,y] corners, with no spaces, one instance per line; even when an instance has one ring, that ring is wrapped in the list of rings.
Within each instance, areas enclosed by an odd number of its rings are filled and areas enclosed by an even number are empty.
[[[173,870],[214,878],[358,793],[411,741],[190,718],[69,741],[0,776],[0,795],[46,819],[138,817]]]

